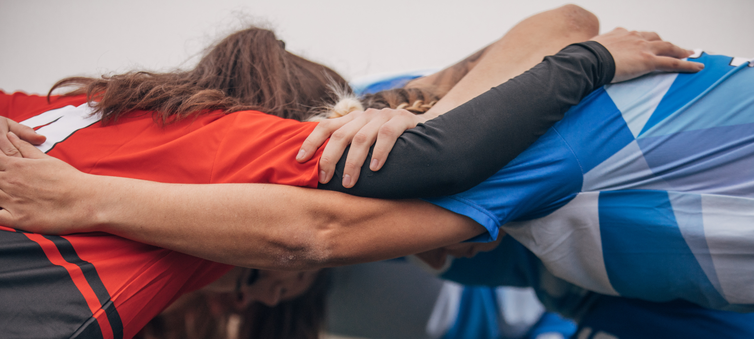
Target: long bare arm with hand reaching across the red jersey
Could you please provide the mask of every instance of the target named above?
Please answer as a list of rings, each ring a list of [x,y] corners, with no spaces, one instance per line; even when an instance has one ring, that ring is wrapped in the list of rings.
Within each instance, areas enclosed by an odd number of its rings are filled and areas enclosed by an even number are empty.
[[[103,231],[272,270],[395,258],[484,231],[467,217],[419,200],[284,185],[176,185],[93,176],[13,134],[9,139],[27,159],[0,154],[0,224],[25,231]]]

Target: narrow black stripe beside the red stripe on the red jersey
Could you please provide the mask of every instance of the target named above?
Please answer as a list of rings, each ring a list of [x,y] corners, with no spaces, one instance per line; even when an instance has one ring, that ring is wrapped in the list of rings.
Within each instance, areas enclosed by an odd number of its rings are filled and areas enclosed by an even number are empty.
[[[94,294],[97,295],[97,299],[100,301],[100,306],[106,311],[105,313],[110,322],[110,327],[112,327],[113,336],[115,339],[121,339],[123,337],[123,322],[121,321],[121,316],[118,314],[118,310],[115,309],[115,305],[112,304],[110,294],[107,292],[102,279],[100,279],[100,275],[97,274],[97,269],[94,265],[79,258],[73,245],[65,238],[54,236],[44,237],[51,240],[55,246],[57,246],[60,255],[63,255],[63,258],[66,259],[66,261],[81,268],[81,272],[84,273],[84,277],[87,279],[89,286],[94,291]]]

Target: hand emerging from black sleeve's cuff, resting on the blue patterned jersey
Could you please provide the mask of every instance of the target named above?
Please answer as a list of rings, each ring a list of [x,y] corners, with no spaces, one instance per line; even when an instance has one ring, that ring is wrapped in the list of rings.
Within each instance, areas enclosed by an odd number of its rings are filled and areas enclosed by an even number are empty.
[[[615,60],[613,83],[653,71],[694,73],[704,69],[702,63],[681,60],[693,54],[693,50],[662,41],[655,32],[629,32],[618,27],[592,40],[605,46]]]

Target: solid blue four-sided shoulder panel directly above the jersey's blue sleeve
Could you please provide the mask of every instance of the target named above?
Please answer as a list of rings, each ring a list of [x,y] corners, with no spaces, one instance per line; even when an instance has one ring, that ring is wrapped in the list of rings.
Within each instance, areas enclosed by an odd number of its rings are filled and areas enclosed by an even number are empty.
[[[604,88],[581,100],[553,128],[573,149],[583,173],[634,140],[621,111]]]

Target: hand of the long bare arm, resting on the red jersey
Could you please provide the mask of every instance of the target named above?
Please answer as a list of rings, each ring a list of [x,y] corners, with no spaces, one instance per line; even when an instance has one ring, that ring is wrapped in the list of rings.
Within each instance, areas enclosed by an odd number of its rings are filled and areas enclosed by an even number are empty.
[[[0,154],[0,224],[41,234],[87,231],[83,221],[96,212],[81,205],[90,175],[12,132],[4,136],[23,158]]]

